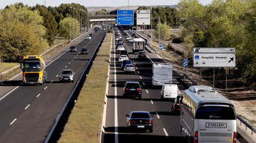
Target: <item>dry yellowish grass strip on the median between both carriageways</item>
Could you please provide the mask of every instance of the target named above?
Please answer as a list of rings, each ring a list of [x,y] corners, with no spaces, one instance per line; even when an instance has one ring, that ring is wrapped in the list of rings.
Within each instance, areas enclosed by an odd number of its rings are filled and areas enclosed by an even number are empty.
[[[111,37],[112,34],[108,34]],[[108,77],[110,41],[104,39],[59,142],[99,142]]]

